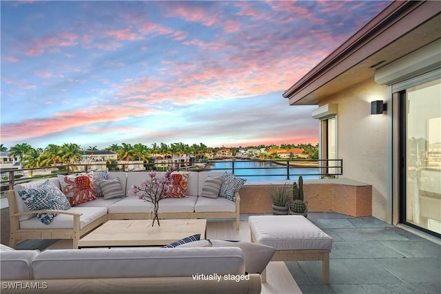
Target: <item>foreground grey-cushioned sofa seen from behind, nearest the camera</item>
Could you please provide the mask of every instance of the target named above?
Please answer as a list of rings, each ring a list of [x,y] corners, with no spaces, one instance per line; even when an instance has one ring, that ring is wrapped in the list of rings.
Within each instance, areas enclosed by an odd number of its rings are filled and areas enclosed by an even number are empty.
[[[245,274],[239,247],[2,250],[0,259],[1,293],[245,294],[261,289],[258,273]]]

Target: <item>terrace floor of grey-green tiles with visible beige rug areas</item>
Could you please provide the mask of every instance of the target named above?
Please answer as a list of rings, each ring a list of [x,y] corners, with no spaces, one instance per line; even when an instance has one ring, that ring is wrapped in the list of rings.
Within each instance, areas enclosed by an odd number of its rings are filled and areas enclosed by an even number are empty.
[[[240,231],[232,221],[209,220],[207,238],[249,241],[248,216],[241,216]],[[320,262],[270,262],[262,293],[441,293],[440,240],[373,217],[309,213],[308,218],[334,239],[331,284],[322,283]],[[2,209],[3,244],[8,244],[8,231],[8,210]],[[18,249],[61,249],[70,244],[28,240]]]

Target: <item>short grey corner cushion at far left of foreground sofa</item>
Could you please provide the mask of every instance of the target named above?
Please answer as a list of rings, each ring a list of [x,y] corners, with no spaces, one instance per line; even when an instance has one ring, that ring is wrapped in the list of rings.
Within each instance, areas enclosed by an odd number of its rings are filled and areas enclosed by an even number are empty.
[[[0,251],[1,280],[32,280],[32,261],[38,250]]]

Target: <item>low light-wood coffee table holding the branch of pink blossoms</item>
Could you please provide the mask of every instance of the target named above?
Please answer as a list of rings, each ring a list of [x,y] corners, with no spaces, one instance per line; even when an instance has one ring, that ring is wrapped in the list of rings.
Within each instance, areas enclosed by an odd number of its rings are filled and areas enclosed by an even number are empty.
[[[161,220],[152,227],[152,220],[108,220],[101,227],[79,240],[81,247],[159,246],[190,235],[205,239],[207,220]]]

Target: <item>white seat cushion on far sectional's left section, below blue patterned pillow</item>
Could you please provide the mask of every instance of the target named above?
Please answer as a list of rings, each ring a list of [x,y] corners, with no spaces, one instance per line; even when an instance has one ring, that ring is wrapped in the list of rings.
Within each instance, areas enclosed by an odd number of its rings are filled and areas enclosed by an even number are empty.
[[[80,229],[83,229],[83,227],[94,222],[94,220],[105,216],[107,214],[107,207],[72,207],[69,211],[83,213],[80,216]],[[48,225],[42,224],[37,218],[31,218],[30,220],[20,222],[20,227],[21,229],[72,229],[74,227],[74,218],[73,216],[59,214]]]

